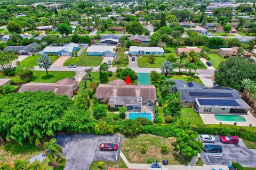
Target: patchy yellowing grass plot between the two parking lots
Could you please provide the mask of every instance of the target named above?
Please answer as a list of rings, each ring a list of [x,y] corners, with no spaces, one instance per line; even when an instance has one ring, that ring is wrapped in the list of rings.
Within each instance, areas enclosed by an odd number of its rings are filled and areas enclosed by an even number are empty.
[[[179,156],[179,152],[174,148],[173,138],[163,138],[155,135],[140,134],[135,138],[124,139],[122,143],[122,152],[130,163],[147,164],[158,162],[166,159],[169,161],[169,165],[188,165],[189,160],[183,159]],[[142,154],[140,148],[142,145],[146,145],[146,152]],[[169,154],[162,154],[161,148],[167,146],[170,151]],[[129,148],[130,151],[125,151]]]

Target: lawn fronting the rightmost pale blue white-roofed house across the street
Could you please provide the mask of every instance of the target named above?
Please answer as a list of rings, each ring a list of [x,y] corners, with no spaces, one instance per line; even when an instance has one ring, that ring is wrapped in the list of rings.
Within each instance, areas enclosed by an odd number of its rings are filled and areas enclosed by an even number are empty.
[[[143,68],[161,68],[163,62],[166,61],[165,57],[155,57],[156,61],[154,64],[148,62],[147,56],[138,57],[138,66]]]

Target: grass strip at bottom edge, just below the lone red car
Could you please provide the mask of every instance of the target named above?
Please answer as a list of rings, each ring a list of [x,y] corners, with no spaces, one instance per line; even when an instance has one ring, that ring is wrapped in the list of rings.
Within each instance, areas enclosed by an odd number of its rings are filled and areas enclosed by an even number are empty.
[[[98,162],[100,161],[94,161],[92,162],[90,166],[90,170],[99,169],[98,168]],[[118,162],[104,162],[104,166],[102,170],[107,170],[108,168],[127,168],[126,164],[124,163],[123,159],[120,157],[120,160]]]

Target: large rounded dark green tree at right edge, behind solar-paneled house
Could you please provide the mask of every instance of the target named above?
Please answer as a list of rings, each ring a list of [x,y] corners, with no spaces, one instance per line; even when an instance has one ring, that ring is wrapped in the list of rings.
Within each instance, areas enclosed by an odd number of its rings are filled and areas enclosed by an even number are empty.
[[[243,90],[242,80],[256,81],[256,64],[244,57],[231,57],[222,61],[215,71],[215,81],[221,86]]]

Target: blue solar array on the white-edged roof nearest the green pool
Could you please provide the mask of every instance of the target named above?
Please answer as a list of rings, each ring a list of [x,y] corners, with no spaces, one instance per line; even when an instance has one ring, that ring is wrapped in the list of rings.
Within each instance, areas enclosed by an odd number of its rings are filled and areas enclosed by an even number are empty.
[[[203,106],[239,106],[234,99],[198,99]]]

